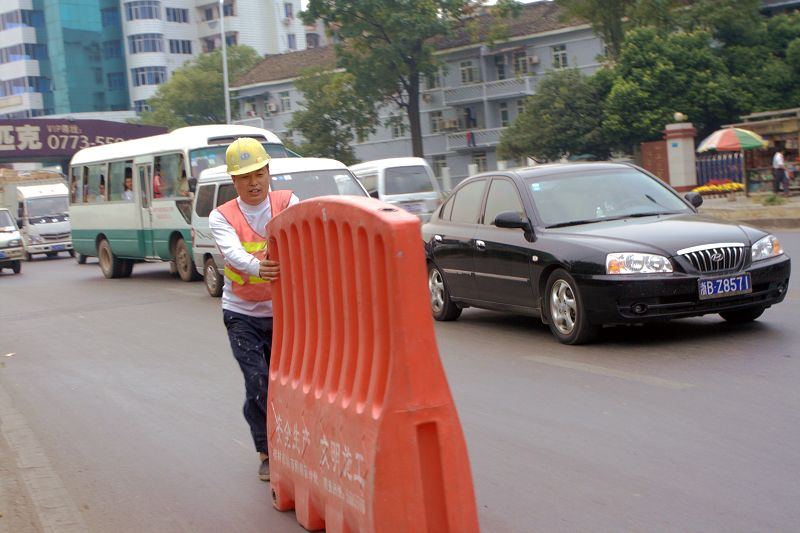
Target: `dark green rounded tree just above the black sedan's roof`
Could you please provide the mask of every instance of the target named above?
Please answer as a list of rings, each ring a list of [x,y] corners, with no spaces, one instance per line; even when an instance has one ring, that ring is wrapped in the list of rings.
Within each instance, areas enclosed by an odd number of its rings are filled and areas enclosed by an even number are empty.
[[[522,114],[503,132],[498,157],[555,160],[590,153],[607,158],[598,102],[605,99],[612,81],[608,70],[591,77],[577,69],[548,72]]]

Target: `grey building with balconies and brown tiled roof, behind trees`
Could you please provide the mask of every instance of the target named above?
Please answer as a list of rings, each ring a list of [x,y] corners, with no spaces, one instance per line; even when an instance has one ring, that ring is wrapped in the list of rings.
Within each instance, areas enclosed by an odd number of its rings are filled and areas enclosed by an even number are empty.
[[[553,2],[535,2],[508,23],[509,37],[502,42],[490,46],[466,33],[437,42],[443,66],[422,87],[420,102],[425,157],[437,175],[447,167],[455,182],[468,175],[471,164],[478,170],[497,168],[500,136],[546,71],[578,68],[590,74],[600,67],[601,39],[588,24],[564,22],[560,15]],[[488,16],[482,15],[484,35],[488,26]],[[266,58],[232,85],[241,116],[285,136],[303,100],[294,81],[308,66],[335,68],[332,47]],[[383,119],[401,116],[391,107],[381,113]],[[381,127],[354,148],[362,160],[408,156],[410,132],[401,124]]]

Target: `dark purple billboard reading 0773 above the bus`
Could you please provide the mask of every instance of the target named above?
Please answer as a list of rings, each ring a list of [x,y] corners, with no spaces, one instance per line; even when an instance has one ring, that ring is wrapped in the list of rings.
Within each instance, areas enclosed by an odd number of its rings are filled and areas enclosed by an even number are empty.
[[[0,162],[68,160],[82,148],[166,132],[161,126],[107,120],[0,120]]]

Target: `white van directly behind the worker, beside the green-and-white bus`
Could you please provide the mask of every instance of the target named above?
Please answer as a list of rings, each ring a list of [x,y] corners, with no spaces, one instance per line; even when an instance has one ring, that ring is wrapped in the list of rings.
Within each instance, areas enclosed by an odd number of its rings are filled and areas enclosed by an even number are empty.
[[[197,272],[203,276],[211,296],[222,294],[225,263],[208,227],[208,215],[236,198],[233,181],[225,165],[204,170],[195,186],[192,204],[192,254]],[[301,201],[316,196],[348,194],[369,196],[364,187],[335,159],[320,157],[281,157],[269,162],[270,187],[274,191],[290,189]]]

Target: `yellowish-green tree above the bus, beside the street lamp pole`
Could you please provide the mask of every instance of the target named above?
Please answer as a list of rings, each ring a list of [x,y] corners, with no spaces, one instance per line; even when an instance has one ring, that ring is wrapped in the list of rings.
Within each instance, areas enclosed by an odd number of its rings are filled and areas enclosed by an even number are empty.
[[[258,52],[249,46],[227,49],[229,80],[235,80],[261,60]],[[224,93],[222,51],[217,49],[176,69],[169,81],[159,85],[155,96],[148,100],[150,111],[142,113],[139,122],[166,126],[170,130],[199,124],[224,124]]]

